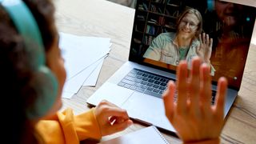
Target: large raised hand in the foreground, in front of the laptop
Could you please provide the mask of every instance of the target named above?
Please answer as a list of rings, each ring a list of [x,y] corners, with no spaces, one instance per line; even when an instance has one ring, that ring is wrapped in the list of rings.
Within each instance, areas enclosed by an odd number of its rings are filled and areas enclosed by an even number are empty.
[[[210,68],[201,63],[200,58],[194,58],[188,74],[187,63],[180,62],[176,84],[169,82],[163,94],[166,117],[183,142],[216,142],[222,131],[227,81],[218,79],[218,92],[212,105]],[[177,102],[174,102],[175,86]]]

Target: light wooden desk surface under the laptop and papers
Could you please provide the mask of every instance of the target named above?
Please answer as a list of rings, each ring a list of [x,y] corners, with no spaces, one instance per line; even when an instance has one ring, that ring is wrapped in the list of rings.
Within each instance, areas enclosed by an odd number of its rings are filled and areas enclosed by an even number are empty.
[[[102,66],[98,83],[95,87],[83,86],[71,99],[63,99],[63,107],[71,107],[75,114],[89,108],[86,99],[102,86],[128,59],[130,38],[134,19],[134,9],[120,6],[105,0],[55,0],[56,23],[58,30],[70,34],[111,38],[112,50]],[[254,35],[255,34],[254,30]],[[255,38],[256,36],[254,36]],[[255,40],[254,40],[255,41]],[[246,69],[242,78],[242,87],[230,110],[222,130],[222,143],[254,143],[256,141],[256,45],[250,46]],[[104,73],[103,73],[104,71]],[[106,136],[103,139],[141,129],[134,123],[128,129]],[[181,143],[171,134],[163,133],[170,143]]]

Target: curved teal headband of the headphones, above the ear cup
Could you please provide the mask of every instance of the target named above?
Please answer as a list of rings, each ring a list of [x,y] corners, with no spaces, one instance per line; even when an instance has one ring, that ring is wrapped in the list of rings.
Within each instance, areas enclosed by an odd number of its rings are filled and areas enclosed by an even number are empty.
[[[0,2],[10,15],[18,33],[24,38],[28,56],[35,60],[31,62],[33,68],[44,65],[46,60],[41,33],[29,8],[21,0],[0,0]],[[35,46],[38,47],[36,50],[34,50]]]

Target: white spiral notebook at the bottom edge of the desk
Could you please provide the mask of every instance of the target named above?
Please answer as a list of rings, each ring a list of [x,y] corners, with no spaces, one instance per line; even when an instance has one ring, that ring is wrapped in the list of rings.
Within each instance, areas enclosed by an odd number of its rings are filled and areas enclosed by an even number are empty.
[[[155,126],[148,126],[131,132],[129,134],[124,134],[118,138],[113,138],[100,142],[100,144],[169,144],[166,138],[162,136],[159,130]]]

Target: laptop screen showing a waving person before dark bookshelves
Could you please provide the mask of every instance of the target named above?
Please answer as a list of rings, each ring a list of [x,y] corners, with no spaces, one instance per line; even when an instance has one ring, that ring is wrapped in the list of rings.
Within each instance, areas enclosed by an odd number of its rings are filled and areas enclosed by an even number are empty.
[[[175,73],[194,56],[210,66],[213,83],[225,76],[239,90],[256,8],[219,0],[137,0],[132,62]]]

